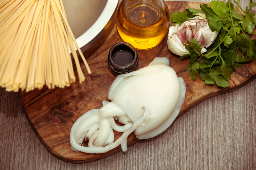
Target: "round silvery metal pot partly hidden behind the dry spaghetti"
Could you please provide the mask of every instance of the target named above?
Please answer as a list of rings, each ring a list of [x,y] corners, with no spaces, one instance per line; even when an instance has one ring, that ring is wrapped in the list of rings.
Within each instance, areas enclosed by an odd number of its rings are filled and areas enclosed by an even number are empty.
[[[119,0],[63,0],[70,28],[84,52],[110,25]]]

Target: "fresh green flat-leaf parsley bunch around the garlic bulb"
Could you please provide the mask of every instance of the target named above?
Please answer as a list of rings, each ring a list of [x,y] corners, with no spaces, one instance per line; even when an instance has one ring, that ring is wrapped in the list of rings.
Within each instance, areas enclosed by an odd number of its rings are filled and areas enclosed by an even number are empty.
[[[187,66],[189,77],[196,80],[197,77],[205,81],[205,84],[217,84],[220,87],[229,87],[229,78],[244,62],[256,59],[256,40],[250,40],[249,35],[254,34],[256,26],[255,13],[250,10],[256,3],[250,0],[249,7],[243,10],[234,0],[236,6],[228,1],[211,1],[210,5],[202,4],[200,9],[186,9],[183,12],[174,12],[172,22],[181,25],[188,18],[195,17],[198,13],[204,13],[208,19],[212,31],[218,31],[215,42],[207,48],[206,54],[201,53],[201,45],[194,39],[190,44],[185,43],[190,63]],[[241,54],[239,54],[241,52]]]

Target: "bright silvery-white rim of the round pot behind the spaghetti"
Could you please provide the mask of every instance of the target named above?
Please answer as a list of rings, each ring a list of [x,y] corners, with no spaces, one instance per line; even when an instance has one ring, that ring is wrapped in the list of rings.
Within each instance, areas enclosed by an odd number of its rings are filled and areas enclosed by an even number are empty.
[[[76,38],[77,44],[79,48],[83,47],[83,51],[90,48],[90,46],[94,43],[90,43],[95,37],[97,37],[103,29],[107,29],[111,22],[113,15],[115,14],[115,10],[119,4],[119,0],[108,0],[101,15],[99,18],[94,22],[94,24],[82,35]],[[106,28],[105,28],[106,27]],[[104,31],[105,31],[104,30]],[[98,37],[99,38],[99,37]],[[98,40],[98,39],[97,39]],[[95,40],[95,42],[97,41]],[[84,47],[86,45],[91,44],[88,47]]]

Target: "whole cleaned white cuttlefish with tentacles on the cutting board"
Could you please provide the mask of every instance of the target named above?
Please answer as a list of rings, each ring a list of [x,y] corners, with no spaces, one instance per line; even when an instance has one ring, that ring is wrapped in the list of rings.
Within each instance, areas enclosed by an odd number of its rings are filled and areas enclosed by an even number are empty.
[[[169,67],[166,57],[155,58],[147,67],[116,77],[101,109],[84,113],[73,124],[70,144],[73,151],[104,153],[121,145],[127,137],[152,138],[167,129],[177,117],[185,99],[186,84]],[[118,120],[124,124],[119,126]],[[113,130],[123,132],[114,141]]]

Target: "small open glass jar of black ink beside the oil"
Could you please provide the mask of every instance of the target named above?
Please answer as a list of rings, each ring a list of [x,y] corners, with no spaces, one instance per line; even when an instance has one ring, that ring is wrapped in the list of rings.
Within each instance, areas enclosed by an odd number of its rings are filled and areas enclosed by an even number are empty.
[[[129,43],[117,43],[109,50],[108,64],[114,76],[134,71],[138,64],[137,51]]]

